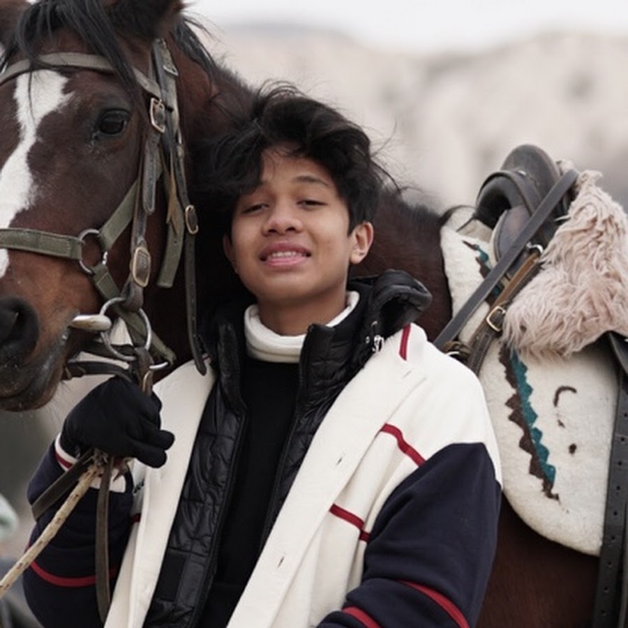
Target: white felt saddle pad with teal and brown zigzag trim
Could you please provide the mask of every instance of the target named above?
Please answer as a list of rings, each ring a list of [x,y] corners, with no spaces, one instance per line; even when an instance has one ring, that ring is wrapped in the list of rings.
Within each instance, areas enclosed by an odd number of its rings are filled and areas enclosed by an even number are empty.
[[[449,226],[441,244],[455,314],[490,271],[491,245]],[[468,341],[487,313],[482,304],[461,340]],[[523,360],[497,340],[479,379],[511,506],[544,537],[599,555],[617,403],[610,354],[592,344],[567,359]]]

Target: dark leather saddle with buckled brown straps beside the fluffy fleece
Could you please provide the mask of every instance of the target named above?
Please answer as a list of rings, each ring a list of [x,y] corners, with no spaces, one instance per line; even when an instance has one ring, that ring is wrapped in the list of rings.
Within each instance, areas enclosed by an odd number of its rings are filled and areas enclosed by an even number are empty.
[[[567,213],[576,170],[561,173],[551,158],[531,144],[516,147],[502,168],[481,186],[471,220],[493,230],[495,266],[434,344],[460,357],[478,373],[491,342],[502,331],[507,306],[539,271],[537,260]],[[470,343],[457,340],[461,329],[498,285],[504,290]]]

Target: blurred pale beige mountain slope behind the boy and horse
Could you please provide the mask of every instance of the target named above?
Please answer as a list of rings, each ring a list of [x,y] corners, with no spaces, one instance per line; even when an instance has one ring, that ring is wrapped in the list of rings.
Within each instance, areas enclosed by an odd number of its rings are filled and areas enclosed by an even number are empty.
[[[210,27],[210,49],[253,85],[288,80],[359,124],[401,181],[473,202],[516,145],[604,173],[628,200],[628,36],[545,33],[470,54],[377,50],[290,24]]]

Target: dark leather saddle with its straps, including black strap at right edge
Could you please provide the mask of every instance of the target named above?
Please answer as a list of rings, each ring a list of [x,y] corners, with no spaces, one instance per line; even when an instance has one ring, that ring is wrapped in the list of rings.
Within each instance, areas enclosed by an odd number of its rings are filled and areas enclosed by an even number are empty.
[[[509,304],[539,271],[539,255],[569,210],[576,179],[578,172],[562,172],[542,149],[525,144],[511,151],[500,170],[482,184],[470,221],[492,230],[496,261],[434,341],[475,373],[502,332]],[[462,343],[461,330],[496,288],[500,292],[488,315]],[[623,451],[628,437],[628,342],[614,332],[606,333],[606,341],[618,364],[620,385],[592,628],[624,626],[628,615],[628,453]]]

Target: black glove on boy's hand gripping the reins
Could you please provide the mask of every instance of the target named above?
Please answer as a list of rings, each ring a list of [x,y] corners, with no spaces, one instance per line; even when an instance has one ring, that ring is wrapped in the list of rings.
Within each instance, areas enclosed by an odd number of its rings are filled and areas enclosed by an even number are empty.
[[[96,447],[117,458],[137,458],[150,467],[166,461],[165,450],[174,435],[160,430],[161,402],[121,377],[112,377],[68,414],[61,431],[61,447],[68,454],[84,454]]]

